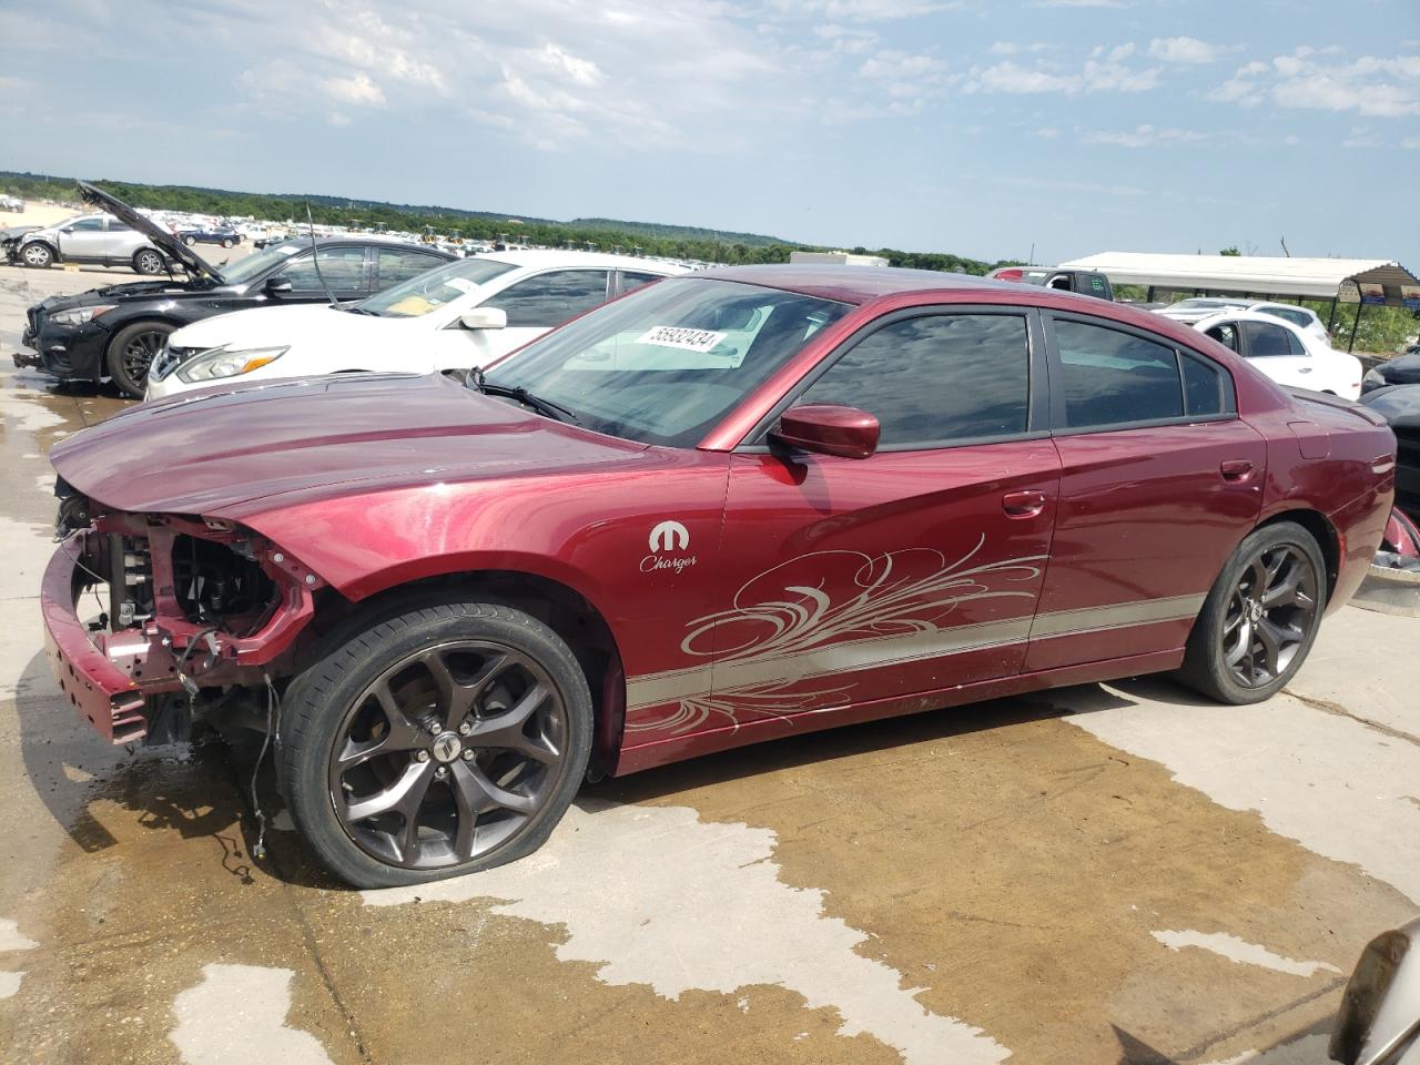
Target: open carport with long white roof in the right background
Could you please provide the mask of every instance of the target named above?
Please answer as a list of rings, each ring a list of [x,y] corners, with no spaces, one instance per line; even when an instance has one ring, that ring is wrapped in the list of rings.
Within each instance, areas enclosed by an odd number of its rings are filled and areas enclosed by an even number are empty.
[[[1147,301],[1159,293],[1238,297],[1248,300],[1329,300],[1336,322],[1338,302],[1360,304],[1350,328],[1366,305],[1407,307],[1420,311],[1420,278],[1400,263],[1383,258],[1289,258],[1274,256],[1177,256],[1143,251],[1102,251],[1062,267],[1096,270],[1112,285],[1145,285]]]

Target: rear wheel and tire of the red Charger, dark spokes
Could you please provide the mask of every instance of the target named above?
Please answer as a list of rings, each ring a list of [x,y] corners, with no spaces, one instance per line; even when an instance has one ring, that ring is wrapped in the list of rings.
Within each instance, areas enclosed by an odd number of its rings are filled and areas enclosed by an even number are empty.
[[[1311,653],[1325,608],[1326,564],[1316,538],[1291,521],[1257,528],[1208,592],[1179,679],[1231,706],[1271,699]]]

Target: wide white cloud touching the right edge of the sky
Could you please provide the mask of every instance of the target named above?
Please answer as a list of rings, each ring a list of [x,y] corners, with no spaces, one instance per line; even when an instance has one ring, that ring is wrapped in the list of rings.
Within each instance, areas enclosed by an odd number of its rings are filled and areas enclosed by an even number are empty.
[[[1214,88],[1210,99],[1255,106],[1308,111],[1355,111],[1367,118],[1420,115],[1420,55],[1363,55],[1352,62],[1328,62],[1328,50],[1298,48],[1271,62],[1240,67]]]

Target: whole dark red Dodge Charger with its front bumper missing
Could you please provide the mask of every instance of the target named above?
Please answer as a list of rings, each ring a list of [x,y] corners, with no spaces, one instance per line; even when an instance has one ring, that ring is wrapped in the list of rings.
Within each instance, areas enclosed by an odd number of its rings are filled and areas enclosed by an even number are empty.
[[[530,853],[588,777],[757,740],[1162,670],[1267,699],[1366,572],[1394,446],[1099,300],[714,270],[467,382],[65,440],[48,650],[114,743],[274,733],[320,858],[410,883]]]

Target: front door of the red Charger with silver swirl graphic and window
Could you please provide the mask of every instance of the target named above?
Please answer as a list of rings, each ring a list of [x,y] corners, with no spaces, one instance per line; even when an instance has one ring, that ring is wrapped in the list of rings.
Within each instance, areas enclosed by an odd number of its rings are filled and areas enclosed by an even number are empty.
[[[707,727],[1020,670],[1059,484],[1039,346],[1021,310],[889,315],[794,400],[875,415],[876,454],[733,457],[721,599],[683,645],[714,663]]]

